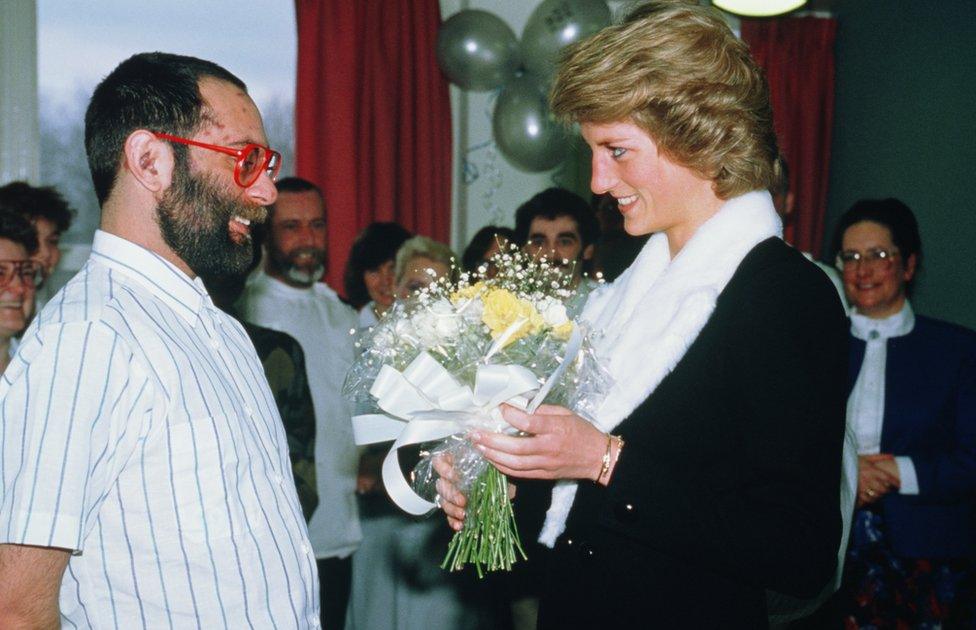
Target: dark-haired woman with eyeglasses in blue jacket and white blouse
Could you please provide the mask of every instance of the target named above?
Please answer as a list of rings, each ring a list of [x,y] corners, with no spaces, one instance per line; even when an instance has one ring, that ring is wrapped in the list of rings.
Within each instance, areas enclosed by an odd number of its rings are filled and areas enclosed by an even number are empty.
[[[852,306],[858,510],[839,602],[847,627],[972,627],[976,553],[976,333],[916,315],[912,211],[865,199],[840,219]]]

